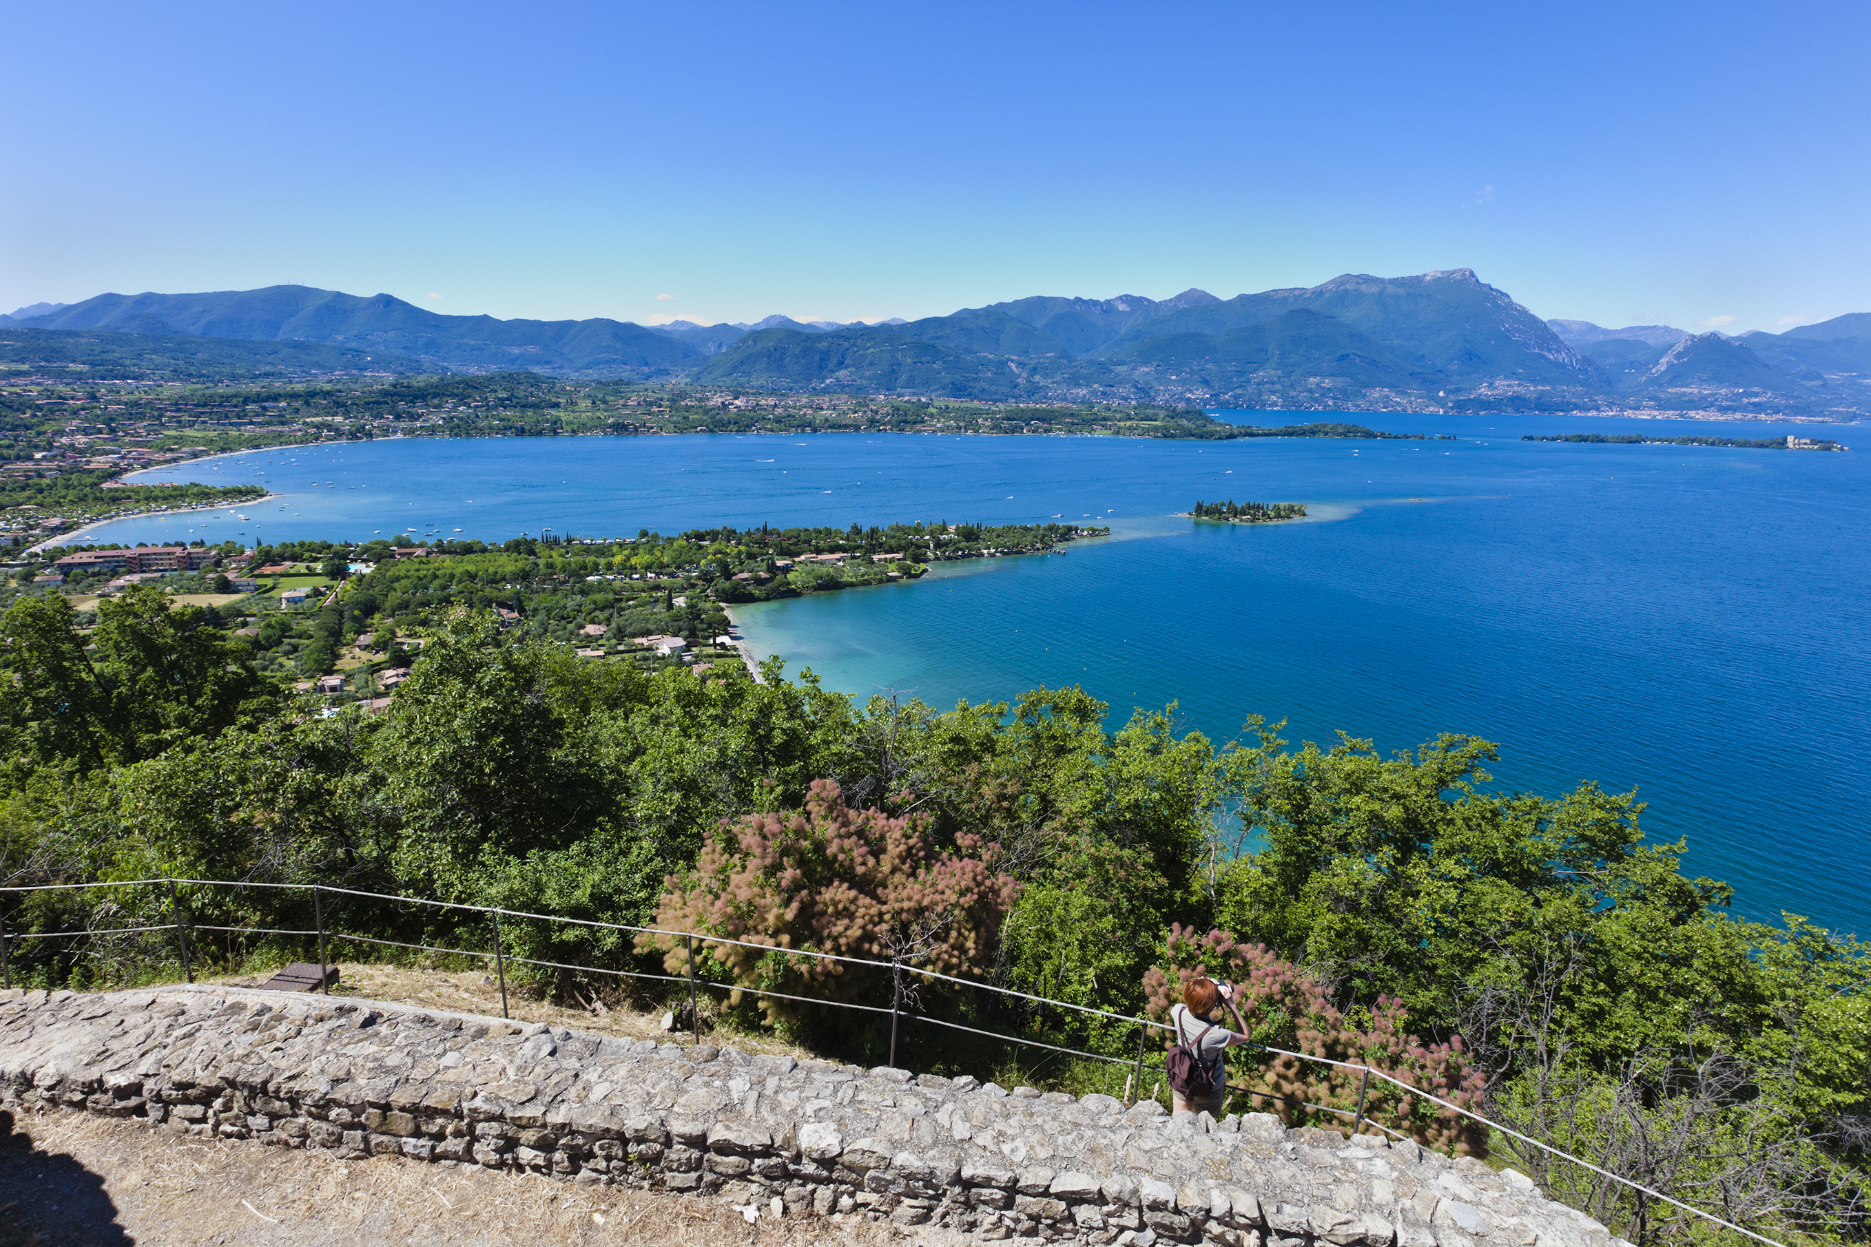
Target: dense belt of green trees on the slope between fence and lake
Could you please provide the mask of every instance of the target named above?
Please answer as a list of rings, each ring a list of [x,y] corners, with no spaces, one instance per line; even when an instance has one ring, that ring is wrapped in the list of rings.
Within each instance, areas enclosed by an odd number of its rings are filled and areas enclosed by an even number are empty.
[[[1370,1060],[1394,1060],[1370,1045],[1400,1043],[1405,1025],[1450,1053],[1461,1036],[1459,1077],[1480,1075],[1474,1094],[1501,1120],[1766,1232],[1864,1234],[1865,944],[1796,916],[1729,916],[1729,888],[1686,875],[1682,843],[1646,839],[1632,795],[1499,791],[1486,740],[1448,735],[1398,757],[1353,738],[1291,750],[1250,720],[1242,740],[1216,744],[1179,733],[1173,707],[1113,729],[1078,688],[947,712],[861,705],[810,675],[786,681],[778,664],[756,684],[726,666],[698,679],[578,662],[471,609],[436,621],[374,716],[311,712],[243,641],[153,591],[103,604],[90,632],[64,602],[28,598],[0,636],[7,882],[316,881],[642,925],[702,877],[730,896],[735,881],[776,881],[760,864],[773,836],[733,834],[750,817],[829,819],[879,843],[913,819],[930,869],[973,860],[1018,894],[969,884],[928,890],[915,912],[879,907],[863,927],[877,946],[915,955],[919,929],[960,914],[943,896],[992,899],[1005,920],[969,920],[967,974],[1119,1015],[1147,1006],[1153,968],[1173,982],[1203,957],[1276,978],[1304,965],[1317,989],[1257,989],[1269,1025],[1323,1019],[1332,1043]],[[846,879],[836,860],[812,871],[823,886],[887,882]],[[208,925],[307,920],[303,897],[283,892],[187,888],[183,903]],[[451,910],[326,905],[339,931],[485,944]],[[28,982],[95,983],[135,970],[138,952],[153,957],[142,972],[161,968],[163,946],[105,955],[82,933],[168,922],[167,888],[11,894],[0,907],[7,931],[73,933],[15,944]],[[625,935],[507,925],[518,955],[660,972],[660,952]],[[1229,952],[1254,944],[1269,952]],[[713,953],[703,970],[722,983],[747,972]],[[582,989],[578,972],[541,974],[546,989]],[[928,1008],[1136,1051],[1123,1023],[960,995]],[[775,1021],[857,1058],[885,1041],[812,1010]],[[994,1060],[947,1032],[907,1036],[919,1069]],[[1633,1240],[1701,1238],[1588,1174],[1536,1154],[1516,1163]]]

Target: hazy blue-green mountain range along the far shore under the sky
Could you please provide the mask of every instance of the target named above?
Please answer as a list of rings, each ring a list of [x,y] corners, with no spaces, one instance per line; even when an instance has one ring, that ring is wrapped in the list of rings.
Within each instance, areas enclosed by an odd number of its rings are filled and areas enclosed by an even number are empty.
[[[1542,322],[1472,269],[1220,299],[1035,295],[879,323],[636,325],[447,316],[311,286],[105,294],[0,316],[47,331],[307,342],[387,370],[528,368],[788,391],[1263,409],[1871,411],[1871,314],[1781,335]],[[275,355],[279,351],[275,350]]]

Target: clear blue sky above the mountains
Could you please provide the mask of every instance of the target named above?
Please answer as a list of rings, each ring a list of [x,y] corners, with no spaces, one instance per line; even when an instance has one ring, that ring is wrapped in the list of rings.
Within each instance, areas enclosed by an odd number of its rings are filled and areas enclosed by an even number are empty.
[[[294,280],[877,320],[1463,265],[1607,325],[1871,310],[1860,0],[107,2],[6,30],[0,310]]]

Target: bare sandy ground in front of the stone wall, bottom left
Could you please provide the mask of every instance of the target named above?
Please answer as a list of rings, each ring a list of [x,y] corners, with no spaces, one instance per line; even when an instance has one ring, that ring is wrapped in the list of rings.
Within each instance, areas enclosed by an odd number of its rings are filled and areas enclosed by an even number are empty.
[[[79,1114],[0,1137],[0,1247],[254,1243],[256,1247],[795,1247],[960,1243],[859,1217],[761,1213],[720,1200],[578,1189],[473,1165],[202,1142]]]

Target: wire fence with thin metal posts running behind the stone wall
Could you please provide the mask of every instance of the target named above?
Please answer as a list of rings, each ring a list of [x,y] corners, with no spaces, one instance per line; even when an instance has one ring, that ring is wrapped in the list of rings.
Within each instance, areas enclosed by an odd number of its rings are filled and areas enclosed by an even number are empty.
[[[245,888],[271,888],[271,890],[281,890],[281,892],[305,892],[305,894],[311,894],[311,897],[312,897],[314,924],[312,924],[312,929],[260,927],[260,925],[228,927],[228,925],[195,924],[195,922],[189,922],[187,916],[185,916],[178,886],[239,888],[239,890],[245,890]],[[702,989],[709,989],[709,991],[730,991],[730,993],[741,993],[741,995],[750,995],[750,996],[763,996],[763,998],[773,998],[773,1000],[814,1004],[814,1006],[825,1006],[825,1008],[836,1008],[836,1010],[851,1010],[851,1011],[872,1013],[872,1015],[885,1015],[885,1013],[889,1013],[891,1015],[891,1047],[889,1047],[889,1053],[891,1053],[889,1064],[891,1066],[896,1066],[898,1026],[904,1021],[913,1021],[913,1023],[921,1023],[921,1025],[941,1026],[941,1028],[947,1028],[947,1030],[960,1030],[960,1032],[967,1032],[967,1034],[973,1034],[973,1036],[979,1036],[979,1038],[986,1038],[986,1039],[995,1039],[995,1041],[1003,1041],[1003,1043],[1018,1043],[1018,1045],[1023,1045],[1023,1047],[1046,1049],[1050,1053],[1059,1053],[1059,1054],[1065,1054],[1065,1056],[1078,1056],[1078,1058],[1095,1060],[1095,1062],[1108,1062],[1108,1064],[1115,1064],[1115,1066],[1132,1066],[1134,1064],[1134,1071],[1132,1071],[1130,1079],[1126,1079],[1126,1090],[1124,1090],[1124,1097],[1123,1097],[1124,1103],[1126,1103],[1126,1107],[1130,1103],[1136,1103],[1136,1099],[1139,1099],[1141,1092],[1143,1092],[1143,1062],[1145,1062],[1145,1054],[1147,1054],[1151,1032],[1169,1032],[1169,1030],[1173,1030],[1173,1026],[1169,1026],[1166,1023],[1151,1021],[1149,1017],[1143,1017],[1143,1015],[1113,1013],[1110,1010],[1098,1010],[1098,1008],[1091,1008],[1091,1006],[1085,1006],[1085,1004],[1074,1004],[1070,1000],[1052,1000],[1048,996],[1037,996],[1037,995],[1031,995],[1031,993],[1016,991],[1012,987],[1001,987],[997,983],[986,983],[986,982],[980,982],[980,980],[967,980],[967,978],[958,978],[958,976],[952,976],[952,974],[941,974],[941,972],[936,972],[936,970],[915,967],[909,959],[904,959],[904,957],[898,957],[898,959],[892,959],[892,961],[879,961],[879,959],[874,959],[874,957],[848,957],[848,955],[840,955],[840,953],[823,953],[823,952],[799,950],[799,948],[778,948],[775,944],[760,944],[760,942],[752,942],[752,940],[735,940],[735,939],[728,939],[728,937],[720,937],[720,935],[707,935],[707,933],[698,933],[698,931],[672,931],[672,929],[666,929],[666,927],[638,927],[638,925],[617,924],[617,922],[597,922],[597,920],[591,920],[591,918],[567,918],[567,916],[559,916],[559,914],[533,914],[533,912],[526,912],[526,910],[500,909],[500,907],[492,907],[492,905],[462,905],[458,901],[434,901],[434,899],[427,899],[427,897],[387,896],[387,894],[382,894],[382,892],[363,892],[363,890],[357,890],[357,888],[337,888],[337,886],[331,886],[331,884],[254,882],[254,881],[226,881],[226,879],[131,879],[131,881],[90,882],[90,884],[0,886],[0,896],[6,896],[6,894],[60,892],[60,890],[64,890],[64,892],[84,892],[84,890],[95,890],[95,888],[167,888],[168,890],[168,901],[170,901],[170,922],[167,922],[167,924],[137,924],[137,925],[129,925],[129,927],[80,929],[80,931],[9,933],[6,929],[4,910],[0,910],[0,985],[4,985],[4,987],[11,987],[13,985],[13,965],[11,965],[13,963],[13,955],[11,953],[13,953],[13,944],[17,940],[92,939],[92,937],[103,937],[103,935],[152,935],[152,933],[163,933],[163,931],[172,931],[174,933],[176,952],[178,952],[178,957],[180,957],[180,963],[181,963],[183,978],[193,983],[195,982],[195,957],[191,957],[189,937],[191,937],[191,933],[213,931],[213,933],[225,933],[225,935],[284,935],[284,937],[296,937],[296,939],[316,939],[318,940],[318,961],[320,961],[320,985],[318,985],[318,991],[324,991],[324,993],[329,995],[329,985],[327,985],[327,980],[324,976],[324,970],[329,968],[329,963],[327,963],[327,942],[331,942],[331,940],[344,940],[344,942],[374,944],[374,946],[382,946],[382,948],[404,948],[404,950],[412,950],[412,952],[428,952],[428,953],[442,953],[442,955],[455,955],[455,957],[481,957],[481,959],[492,961],[494,972],[496,972],[498,983],[500,983],[500,1011],[501,1011],[501,1017],[511,1017],[511,1013],[509,1013],[509,1002],[507,1002],[507,965],[515,963],[515,965],[528,965],[528,967],[548,968],[548,970],[569,970],[569,972],[576,972],[576,974],[602,974],[602,976],[612,976],[612,978],[629,978],[629,980],[644,980],[644,982],[685,983],[689,987],[689,1017],[690,1017],[690,1026],[694,1030],[694,1041],[696,1043],[702,1041],[702,1013],[700,1013],[700,1008],[698,1008],[698,995],[700,995]],[[458,910],[458,912],[468,912],[468,914],[485,914],[488,918],[488,922],[490,922],[490,927],[492,927],[492,950],[445,948],[445,946],[438,946],[438,944],[419,944],[419,942],[408,942],[408,940],[391,940],[391,939],[382,939],[382,937],[357,935],[354,931],[333,931],[333,929],[327,927],[327,924],[324,920],[324,896],[354,897],[354,899],[367,899],[367,901],[389,901],[389,903],[397,903],[397,905],[423,905],[423,907],[432,907],[432,909],[438,909],[438,910]],[[672,940],[679,939],[679,940],[683,940],[683,946],[685,946],[685,952],[687,952],[687,974],[653,974],[653,972],[645,972],[645,970],[621,970],[621,968],[616,968],[616,967],[573,965],[573,963],[561,963],[561,961],[546,961],[546,959],[539,959],[539,957],[518,957],[518,955],[513,955],[511,952],[507,952],[503,948],[503,940],[501,940],[501,918],[522,920],[522,922],[543,922],[543,924],[573,925],[573,927],[589,927],[589,929],[602,929],[602,931],[634,933],[634,935],[657,935],[657,937],[666,937],[666,939],[672,939]],[[752,948],[752,950],[758,950],[761,953],[782,953],[786,957],[819,959],[819,961],[833,961],[833,963],[859,965],[859,967],[868,967],[868,968],[877,968],[877,970],[889,970],[891,972],[891,1004],[889,1006],[883,1006],[883,1004],[859,1004],[859,1002],[851,1002],[851,1000],[833,1000],[833,998],[827,998],[827,996],[801,996],[801,995],[769,991],[769,989],[761,989],[761,987],[747,987],[747,985],[741,985],[741,983],[722,983],[722,982],[717,982],[717,980],[702,978],[702,976],[696,974],[696,944],[698,942],[702,944],[703,950],[707,946],[711,946],[711,944],[713,946],[732,946],[732,948]],[[904,987],[904,976],[906,974],[911,976],[913,980],[952,983],[952,985],[969,987],[969,989],[975,989],[975,991],[992,993],[992,995],[997,995],[997,996],[1003,996],[1003,998],[1010,998],[1010,1000],[1023,1000],[1023,1002],[1037,1004],[1037,1006],[1076,1011],[1076,1013],[1083,1013],[1083,1015],[1089,1015],[1089,1017],[1100,1017],[1100,1019],[1106,1019],[1106,1021],[1121,1023],[1124,1026],[1136,1026],[1138,1028],[1138,1054],[1136,1054],[1136,1060],[1132,1062],[1132,1058],[1128,1058],[1128,1056],[1110,1056],[1106,1053],[1091,1053],[1091,1051],[1083,1051],[1083,1049],[1074,1049],[1074,1047],[1065,1047],[1065,1045],[1057,1045],[1057,1043],[1048,1043],[1048,1041],[1035,1039],[1035,1038],[1029,1038],[1029,1036],[1001,1034],[1001,1032],[995,1032],[995,1030],[982,1030],[979,1026],[965,1026],[965,1025],[956,1023],[956,1021],[947,1021],[947,1019],[932,1017],[932,1015],[922,1013],[917,1008],[913,1008],[913,1000],[911,1000],[909,993]],[[1555,1146],[1551,1146],[1547,1142],[1542,1142],[1540,1139],[1534,1139],[1530,1135],[1516,1131],[1516,1129],[1512,1129],[1508,1125],[1502,1125],[1502,1124],[1499,1124],[1499,1122],[1495,1122],[1491,1118],[1482,1116],[1480,1112],[1474,1112],[1474,1111],[1465,1109],[1465,1107],[1461,1107],[1458,1103],[1452,1103],[1448,1099],[1433,1096],[1433,1094],[1422,1090],[1420,1086],[1414,1086],[1414,1084],[1411,1084],[1411,1082],[1407,1082],[1407,1081],[1403,1081],[1400,1077],[1394,1077],[1394,1075],[1390,1075],[1390,1073],[1386,1073],[1383,1069],[1373,1069],[1370,1066],[1362,1066],[1362,1064],[1356,1064],[1356,1062],[1332,1060],[1328,1056],[1315,1056],[1312,1053],[1295,1053],[1295,1051],[1289,1051],[1289,1049],[1270,1047],[1270,1045],[1265,1045],[1265,1043],[1252,1043],[1250,1041],[1250,1043],[1237,1043],[1237,1045],[1231,1045],[1231,1047],[1246,1047],[1246,1049],[1267,1053],[1267,1054],[1272,1054],[1272,1056],[1293,1056],[1297,1060],[1313,1062],[1313,1064],[1319,1064],[1319,1066],[1330,1066],[1330,1068],[1336,1068],[1336,1069],[1345,1069],[1349,1073],[1355,1073],[1355,1075],[1358,1075],[1358,1105],[1356,1105],[1356,1109],[1340,1109],[1340,1107],[1334,1107],[1334,1105],[1310,1103],[1310,1101],[1304,1101],[1304,1099],[1293,1097],[1293,1096],[1278,1096],[1278,1094],[1272,1094],[1272,1092],[1263,1092],[1263,1090],[1255,1090],[1255,1088],[1248,1088],[1248,1086],[1229,1084],[1229,1090],[1233,1090],[1233,1092],[1246,1094],[1246,1096],[1259,1097],[1259,1099],[1272,1099],[1272,1101],[1285,1103],[1285,1105],[1298,1105],[1298,1107],[1312,1109],[1312,1111],[1317,1111],[1317,1112],[1330,1112],[1330,1114],[1336,1114],[1336,1116],[1351,1118],[1351,1131],[1353,1131],[1353,1135],[1358,1135],[1364,1127],[1370,1125],[1370,1127],[1375,1127],[1375,1129],[1379,1129],[1379,1131],[1383,1131],[1386,1135],[1392,1135],[1396,1139],[1407,1139],[1409,1135],[1405,1135],[1401,1131],[1396,1131],[1396,1129],[1392,1129],[1392,1127],[1388,1127],[1388,1125],[1385,1125],[1385,1124],[1370,1118],[1366,1114],[1366,1111],[1364,1111],[1366,1109],[1366,1090],[1368,1090],[1371,1079],[1379,1079],[1383,1082],[1390,1082],[1390,1084],[1398,1086],[1400,1090],[1403,1090],[1411,1097],[1433,1103],[1439,1109],[1443,1109],[1444,1112],[1454,1112],[1458,1116],[1469,1118],[1469,1120],[1484,1125],[1486,1129],[1499,1131],[1499,1133],[1502,1133],[1502,1135],[1506,1135],[1510,1139],[1516,1139],[1516,1140],[1519,1140],[1523,1144],[1538,1148],[1540,1152],[1551,1155],[1553,1159],[1566,1161],[1570,1165],[1577,1165],[1579,1168],[1585,1168],[1585,1170],[1588,1170],[1592,1174],[1598,1174],[1600,1178],[1607,1178],[1607,1180],[1611,1180],[1611,1182],[1615,1182],[1615,1183],[1618,1183],[1618,1185],[1622,1185],[1622,1187],[1626,1187],[1630,1191],[1635,1191],[1635,1193],[1639,1193],[1639,1195],[1643,1195],[1646,1198],[1654,1198],[1654,1200],[1660,1200],[1663,1204],[1669,1204],[1671,1208],[1686,1211],[1686,1213],[1690,1213],[1693,1217],[1699,1217],[1701,1221],[1706,1221],[1710,1225],[1716,1225],[1716,1226],[1719,1226],[1723,1230],[1733,1230],[1734,1234],[1742,1234],[1742,1236],[1746,1236],[1746,1238],[1749,1238],[1749,1240],[1753,1240],[1757,1243],[1766,1243],[1768,1247],[1783,1247],[1777,1240],[1766,1238],[1764,1234],[1757,1234],[1755,1230],[1749,1230],[1746,1226],[1734,1225],[1733,1221],[1718,1217],[1718,1215],[1714,1215],[1714,1213],[1710,1213],[1710,1211],[1706,1211],[1703,1208],[1695,1208],[1693,1204],[1686,1204],[1686,1202],[1682,1202],[1682,1200],[1678,1200],[1675,1197],[1669,1197],[1669,1195],[1665,1195],[1661,1191],[1656,1191],[1656,1189],[1652,1189],[1648,1185],[1643,1185],[1639,1182],[1632,1182],[1630,1178],[1624,1178],[1624,1176],[1615,1174],[1615,1172],[1611,1172],[1607,1168],[1592,1165],[1590,1161],[1579,1159],[1579,1157],[1575,1157],[1575,1155],[1572,1155],[1568,1152],[1560,1152],[1559,1148],[1555,1148]]]

